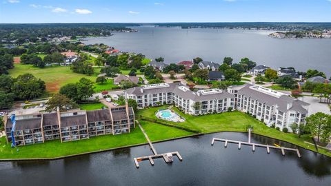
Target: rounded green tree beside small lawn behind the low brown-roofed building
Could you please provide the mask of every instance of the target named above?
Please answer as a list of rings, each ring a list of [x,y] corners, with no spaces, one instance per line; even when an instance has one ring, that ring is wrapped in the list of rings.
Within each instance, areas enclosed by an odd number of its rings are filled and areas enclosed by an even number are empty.
[[[94,93],[93,82],[90,81],[90,79],[81,78],[79,82],[76,83],[76,87],[79,101],[86,101]]]

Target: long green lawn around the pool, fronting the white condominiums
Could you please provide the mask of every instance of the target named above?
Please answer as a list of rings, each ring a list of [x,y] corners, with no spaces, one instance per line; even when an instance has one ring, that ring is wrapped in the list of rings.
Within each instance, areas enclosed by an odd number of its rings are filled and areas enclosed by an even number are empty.
[[[152,107],[146,110],[139,110],[136,114],[137,116],[145,116],[148,118],[157,119],[155,116],[155,112],[163,107]],[[254,133],[260,134],[263,136],[268,136],[270,138],[277,138],[281,141],[287,141],[289,143],[293,143],[295,145],[299,145],[306,149],[310,149],[315,151],[315,147],[313,145],[309,145],[304,143],[304,141],[308,141],[313,143],[310,136],[303,135],[301,138],[297,136],[297,134],[292,133],[284,133],[280,132],[274,128],[270,128],[265,126],[264,123],[257,121],[255,118],[252,118],[248,114],[243,112],[224,112],[222,114],[208,114],[204,116],[190,116],[188,114],[183,114],[176,107],[173,107],[172,110],[177,112],[185,118],[185,122],[183,123],[172,123],[169,121],[159,120],[165,123],[170,123],[172,125],[177,125],[180,127],[185,127],[190,130],[197,130],[202,133],[211,133],[211,132],[245,132],[247,125],[252,125],[254,127]],[[328,152],[325,149],[319,149],[321,154],[325,154],[331,156],[331,152]]]

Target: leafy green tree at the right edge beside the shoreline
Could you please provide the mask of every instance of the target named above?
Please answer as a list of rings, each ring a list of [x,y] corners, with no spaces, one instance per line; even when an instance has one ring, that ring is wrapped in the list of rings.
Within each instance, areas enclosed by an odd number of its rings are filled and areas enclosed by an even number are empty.
[[[324,114],[322,112],[317,112],[316,114],[312,114],[311,116],[306,118],[305,121],[307,122],[306,126],[308,128],[308,131],[312,134],[312,136],[317,136],[318,142],[320,142],[320,138],[322,138],[322,141],[324,142],[330,139],[330,115]]]

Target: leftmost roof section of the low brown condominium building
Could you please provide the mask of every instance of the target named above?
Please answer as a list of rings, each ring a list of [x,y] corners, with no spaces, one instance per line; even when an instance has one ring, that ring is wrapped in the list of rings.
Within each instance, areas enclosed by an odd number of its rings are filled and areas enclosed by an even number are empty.
[[[6,127],[12,127],[12,121],[8,118]],[[41,117],[27,118],[16,121],[15,131],[17,130],[31,130],[41,128]]]

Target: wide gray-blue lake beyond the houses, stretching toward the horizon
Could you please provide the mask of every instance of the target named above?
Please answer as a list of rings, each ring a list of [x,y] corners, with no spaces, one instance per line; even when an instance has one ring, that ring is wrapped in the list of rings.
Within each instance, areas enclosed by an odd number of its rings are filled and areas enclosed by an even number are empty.
[[[331,39],[273,39],[270,31],[226,29],[181,29],[136,27],[139,32],[115,33],[112,37],[88,38],[83,43],[104,43],[121,51],[137,52],[166,63],[191,60],[234,62],[248,57],[271,68],[294,66],[299,71],[314,68],[331,75]]]

